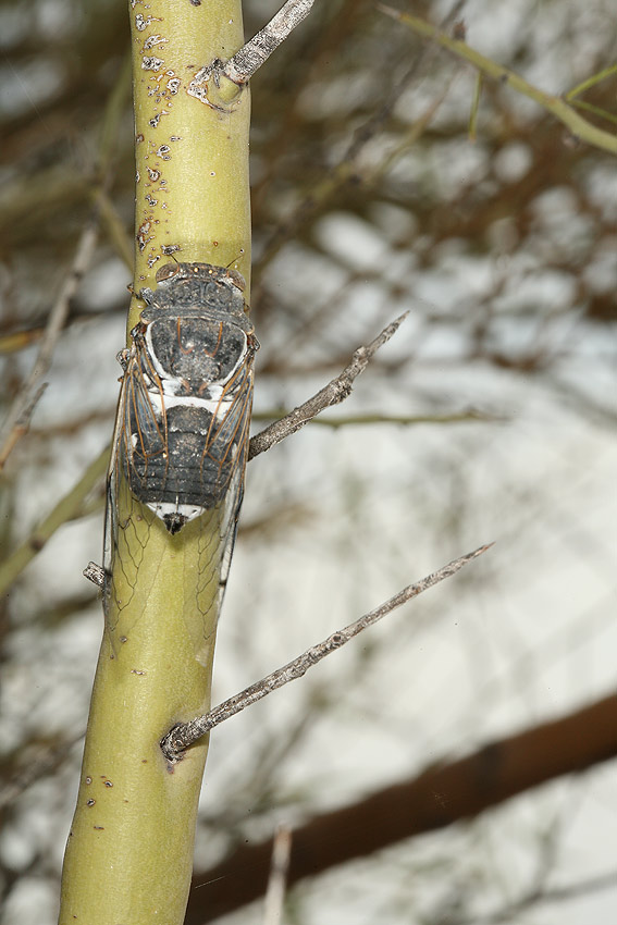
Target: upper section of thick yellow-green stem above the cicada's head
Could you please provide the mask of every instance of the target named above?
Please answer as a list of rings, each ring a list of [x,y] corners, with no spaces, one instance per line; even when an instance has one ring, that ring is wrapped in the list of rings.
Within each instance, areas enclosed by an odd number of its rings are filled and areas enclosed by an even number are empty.
[[[139,13],[143,20],[136,21]],[[153,0],[147,7],[137,3],[131,17],[135,289],[153,287],[157,269],[172,259],[231,266],[248,285],[248,89],[223,78],[218,95],[212,81],[211,96],[223,111],[186,92],[201,65],[230,58],[242,47],[242,4],[217,0],[192,7],[189,0]],[[136,22],[149,24],[137,28]],[[129,328],[141,308],[134,299]]]

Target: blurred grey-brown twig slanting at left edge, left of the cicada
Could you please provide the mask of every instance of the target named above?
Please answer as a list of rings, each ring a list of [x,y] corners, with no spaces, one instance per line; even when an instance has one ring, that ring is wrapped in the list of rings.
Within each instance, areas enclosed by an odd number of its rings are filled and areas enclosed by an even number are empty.
[[[15,397],[4,420],[0,434],[0,472],[17,441],[26,433],[28,423],[45,388],[40,380],[51,366],[51,358],[66,318],[71,299],[75,295],[82,276],[86,272],[95,251],[97,242],[98,219],[92,218],[82,231],[73,264],[66,274],[62,288],[49,314],[45,334],[39,347],[33,370],[27,382]]]

